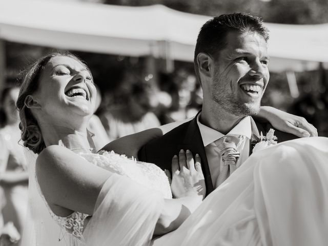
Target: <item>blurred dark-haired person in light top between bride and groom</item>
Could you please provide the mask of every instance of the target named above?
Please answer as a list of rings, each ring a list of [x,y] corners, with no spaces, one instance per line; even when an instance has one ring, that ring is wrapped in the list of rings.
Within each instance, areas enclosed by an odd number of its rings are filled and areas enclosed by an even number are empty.
[[[110,140],[160,126],[151,111],[151,90],[140,81],[122,84],[115,92],[116,107],[103,112],[99,118]]]

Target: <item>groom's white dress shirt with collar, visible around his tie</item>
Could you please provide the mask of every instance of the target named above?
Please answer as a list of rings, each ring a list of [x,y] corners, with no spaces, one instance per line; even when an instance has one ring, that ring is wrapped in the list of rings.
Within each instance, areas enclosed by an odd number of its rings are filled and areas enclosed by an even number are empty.
[[[215,187],[216,180],[223,167],[223,161],[221,159],[219,148],[214,144],[214,141],[225,135],[201,124],[199,122],[199,117],[200,114],[197,116],[197,124],[200,130],[201,138],[203,139],[206,156],[209,163],[212,183]],[[249,157],[250,139],[252,137],[251,117],[246,116],[242,118],[227,135],[241,135],[241,140],[237,146],[237,151],[240,152],[240,156],[236,162],[236,166],[238,168],[241,163],[243,163]]]

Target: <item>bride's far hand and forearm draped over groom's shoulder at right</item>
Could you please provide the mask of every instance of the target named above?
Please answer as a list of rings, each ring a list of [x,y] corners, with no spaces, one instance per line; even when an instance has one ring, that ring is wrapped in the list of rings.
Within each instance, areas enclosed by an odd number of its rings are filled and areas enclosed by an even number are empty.
[[[271,125],[283,132],[292,133],[299,137],[317,137],[317,129],[305,118],[283,112],[269,106],[262,106],[258,118],[267,119]]]

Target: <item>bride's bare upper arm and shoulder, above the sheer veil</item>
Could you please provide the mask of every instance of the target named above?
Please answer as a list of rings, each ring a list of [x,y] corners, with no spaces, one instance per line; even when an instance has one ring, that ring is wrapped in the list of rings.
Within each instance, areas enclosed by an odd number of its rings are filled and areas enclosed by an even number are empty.
[[[92,215],[98,194],[112,175],[69,149],[55,145],[38,155],[35,172],[50,208],[64,217],[72,211]]]

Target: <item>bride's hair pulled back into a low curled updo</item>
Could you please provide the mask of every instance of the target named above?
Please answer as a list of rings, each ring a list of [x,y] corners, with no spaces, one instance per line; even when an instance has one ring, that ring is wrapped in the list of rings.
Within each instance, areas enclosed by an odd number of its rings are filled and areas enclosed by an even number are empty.
[[[22,132],[22,140],[24,146],[32,150],[34,153],[39,154],[43,149],[46,148],[45,142],[42,137],[42,133],[37,124],[35,117],[31,110],[26,107],[26,97],[37,91],[39,86],[40,75],[45,69],[49,61],[56,56],[67,56],[76,59],[81,62],[79,58],[71,53],[51,53],[44,57],[39,58],[32,64],[24,73],[22,86],[19,90],[17,99],[17,109],[19,110],[19,129]],[[83,63],[82,63],[83,64]],[[87,67],[87,66],[86,66]],[[89,70],[89,69],[88,69]]]

